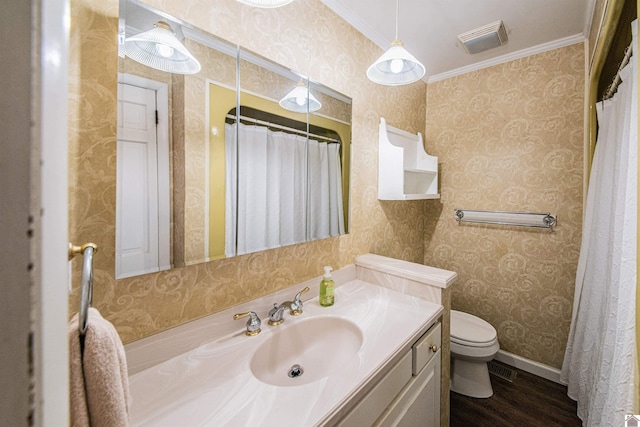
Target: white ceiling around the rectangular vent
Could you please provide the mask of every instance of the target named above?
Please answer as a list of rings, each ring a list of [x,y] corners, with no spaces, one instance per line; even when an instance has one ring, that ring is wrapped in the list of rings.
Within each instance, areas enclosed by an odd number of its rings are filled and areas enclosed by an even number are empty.
[[[395,38],[395,0],[322,0],[383,50]],[[427,68],[425,81],[583,41],[595,0],[400,0],[398,36]],[[502,20],[509,41],[470,55],[457,35]]]

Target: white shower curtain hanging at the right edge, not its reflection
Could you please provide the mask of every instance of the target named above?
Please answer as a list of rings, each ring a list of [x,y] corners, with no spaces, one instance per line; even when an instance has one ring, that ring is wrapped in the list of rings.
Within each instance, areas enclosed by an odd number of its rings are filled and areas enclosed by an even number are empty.
[[[597,105],[573,315],[561,380],[585,426],[633,413],[637,253],[638,71],[633,55],[616,95]]]

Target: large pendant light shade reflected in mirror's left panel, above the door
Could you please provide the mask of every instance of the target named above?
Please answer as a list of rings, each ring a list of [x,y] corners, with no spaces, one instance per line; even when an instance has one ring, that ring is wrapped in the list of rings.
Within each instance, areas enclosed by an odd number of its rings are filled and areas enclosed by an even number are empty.
[[[176,37],[164,21],[144,33],[128,37],[125,42],[128,57],[156,70],[175,74],[195,74],[200,63]]]

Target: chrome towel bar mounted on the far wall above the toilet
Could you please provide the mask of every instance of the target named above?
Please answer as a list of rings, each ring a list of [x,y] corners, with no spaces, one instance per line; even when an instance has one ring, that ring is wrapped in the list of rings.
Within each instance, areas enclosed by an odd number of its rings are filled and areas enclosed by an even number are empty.
[[[556,217],[550,213],[483,211],[472,209],[454,209],[458,222],[477,222],[483,224],[513,225],[518,227],[553,228]]]

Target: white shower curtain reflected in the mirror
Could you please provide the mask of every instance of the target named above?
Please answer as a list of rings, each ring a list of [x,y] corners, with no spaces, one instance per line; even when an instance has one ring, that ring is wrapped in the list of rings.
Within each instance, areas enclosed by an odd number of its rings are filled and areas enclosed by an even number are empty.
[[[227,124],[227,256],[344,233],[338,144],[243,124],[238,136]]]

